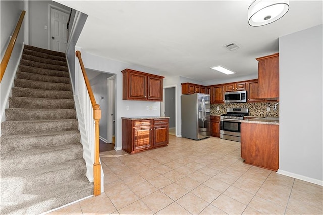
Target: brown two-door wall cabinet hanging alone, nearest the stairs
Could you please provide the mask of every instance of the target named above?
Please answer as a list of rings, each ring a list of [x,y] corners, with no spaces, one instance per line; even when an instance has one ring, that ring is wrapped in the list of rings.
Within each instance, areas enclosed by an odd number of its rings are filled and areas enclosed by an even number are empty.
[[[163,100],[163,76],[125,69],[122,74],[122,99],[142,101]]]

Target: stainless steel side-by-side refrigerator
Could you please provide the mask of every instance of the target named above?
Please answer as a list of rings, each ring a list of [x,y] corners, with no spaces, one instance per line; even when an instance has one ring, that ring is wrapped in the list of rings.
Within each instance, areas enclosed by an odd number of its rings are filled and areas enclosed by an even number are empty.
[[[193,140],[207,138],[211,134],[210,95],[195,93],[182,95],[182,137]]]

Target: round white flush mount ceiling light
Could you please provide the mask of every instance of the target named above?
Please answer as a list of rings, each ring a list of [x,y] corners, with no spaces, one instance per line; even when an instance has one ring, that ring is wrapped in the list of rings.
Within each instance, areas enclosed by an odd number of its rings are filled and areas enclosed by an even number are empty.
[[[249,25],[270,24],[283,17],[288,10],[288,0],[255,0],[248,8]]]

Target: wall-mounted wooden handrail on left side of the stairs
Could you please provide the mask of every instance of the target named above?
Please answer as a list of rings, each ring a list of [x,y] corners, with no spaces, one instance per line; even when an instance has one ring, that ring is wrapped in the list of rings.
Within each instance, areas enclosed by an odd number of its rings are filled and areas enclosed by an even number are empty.
[[[7,65],[8,65],[12,50],[14,49],[14,46],[15,46],[15,43],[16,43],[16,40],[17,40],[17,37],[18,37],[18,34],[19,34],[19,30],[20,30],[22,21],[24,20],[25,13],[26,13],[26,11],[21,12],[20,18],[19,18],[19,20],[17,22],[17,25],[16,25],[16,28],[15,28],[15,31],[14,31],[11,39],[10,39],[10,42],[9,42],[8,47],[6,49],[5,55],[4,55],[3,59],[1,60],[0,83],[1,83],[2,77],[5,74],[5,71],[6,71],[6,68],[7,68]]]

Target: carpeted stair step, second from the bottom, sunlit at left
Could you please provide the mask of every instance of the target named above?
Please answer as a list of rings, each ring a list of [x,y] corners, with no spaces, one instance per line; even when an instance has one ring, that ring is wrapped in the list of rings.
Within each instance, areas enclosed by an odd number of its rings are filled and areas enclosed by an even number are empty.
[[[18,174],[19,177],[23,178],[28,183],[10,183],[12,180],[15,180],[14,177],[17,175],[17,171],[13,170],[13,172],[2,177],[2,190],[15,193],[18,189],[22,190],[22,192],[26,192],[38,189],[38,187],[75,180],[86,175],[86,164],[83,158],[79,158],[68,160],[67,162],[21,170]],[[48,181],[46,180],[47,178],[52,178],[52,180]]]

